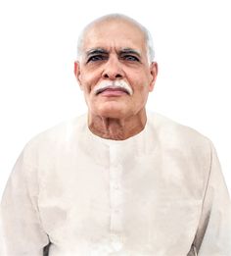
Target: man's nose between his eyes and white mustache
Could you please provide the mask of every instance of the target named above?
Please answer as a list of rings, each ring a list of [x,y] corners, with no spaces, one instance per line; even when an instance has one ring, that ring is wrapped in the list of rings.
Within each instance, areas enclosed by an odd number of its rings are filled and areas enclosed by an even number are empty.
[[[121,79],[124,77],[124,72],[122,70],[121,64],[116,57],[109,58],[109,60],[105,64],[102,77],[112,80]]]

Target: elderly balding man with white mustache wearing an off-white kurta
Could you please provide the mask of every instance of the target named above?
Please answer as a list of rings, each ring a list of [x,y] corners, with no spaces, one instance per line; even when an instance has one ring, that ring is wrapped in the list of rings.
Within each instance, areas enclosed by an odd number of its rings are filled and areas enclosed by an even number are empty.
[[[83,30],[88,114],[24,148],[2,201],[7,256],[228,256],[230,202],[212,143],[146,113],[158,65],[122,15]]]

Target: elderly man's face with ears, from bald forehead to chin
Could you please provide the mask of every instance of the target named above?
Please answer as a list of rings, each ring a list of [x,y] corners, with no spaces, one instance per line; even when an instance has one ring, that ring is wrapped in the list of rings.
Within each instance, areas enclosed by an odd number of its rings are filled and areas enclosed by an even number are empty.
[[[140,28],[126,21],[113,20],[87,30],[81,59],[75,63],[74,71],[90,114],[128,118],[144,112],[157,77],[157,64],[148,62],[144,33]],[[116,86],[117,81],[128,88]]]

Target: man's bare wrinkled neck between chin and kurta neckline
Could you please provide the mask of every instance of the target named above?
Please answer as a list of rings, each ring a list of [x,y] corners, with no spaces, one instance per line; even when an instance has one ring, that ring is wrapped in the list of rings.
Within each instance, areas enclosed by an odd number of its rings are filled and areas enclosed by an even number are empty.
[[[124,140],[134,136],[145,128],[146,121],[145,111],[122,119],[88,114],[88,127],[92,133],[114,140]]]

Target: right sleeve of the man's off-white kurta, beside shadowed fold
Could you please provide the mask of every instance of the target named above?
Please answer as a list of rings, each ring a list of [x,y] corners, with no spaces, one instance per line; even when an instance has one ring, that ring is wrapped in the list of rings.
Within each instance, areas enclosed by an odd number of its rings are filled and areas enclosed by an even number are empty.
[[[230,198],[212,144],[210,148],[208,183],[194,246],[199,256],[230,256]]]

